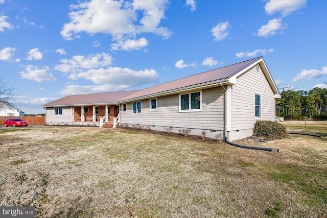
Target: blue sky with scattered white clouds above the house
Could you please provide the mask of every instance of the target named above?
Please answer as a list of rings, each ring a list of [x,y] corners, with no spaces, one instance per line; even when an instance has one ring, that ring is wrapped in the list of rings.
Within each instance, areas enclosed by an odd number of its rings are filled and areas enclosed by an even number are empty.
[[[325,0],[0,0],[0,78],[28,114],[264,56],[278,88],[326,87]]]

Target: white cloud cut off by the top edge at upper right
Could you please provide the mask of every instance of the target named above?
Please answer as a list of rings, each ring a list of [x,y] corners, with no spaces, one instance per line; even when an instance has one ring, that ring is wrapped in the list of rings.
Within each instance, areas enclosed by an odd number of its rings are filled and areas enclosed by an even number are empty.
[[[306,6],[307,0],[270,0],[265,5],[267,14],[280,12],[283,17]]]

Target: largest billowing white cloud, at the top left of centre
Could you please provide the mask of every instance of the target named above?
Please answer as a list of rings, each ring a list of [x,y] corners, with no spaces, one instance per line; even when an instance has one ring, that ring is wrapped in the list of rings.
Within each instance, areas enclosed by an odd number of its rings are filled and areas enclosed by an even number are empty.
[[[67,40],[80,32],[110,34],[113,40],[135,38],[141,33],[170,38],[172,33],[159,26],[160,20],[165,18],[167,4],[167,0],[135,0],[133,3],[91,0],[71,5],[70,22],[64,24],[60,34]]]

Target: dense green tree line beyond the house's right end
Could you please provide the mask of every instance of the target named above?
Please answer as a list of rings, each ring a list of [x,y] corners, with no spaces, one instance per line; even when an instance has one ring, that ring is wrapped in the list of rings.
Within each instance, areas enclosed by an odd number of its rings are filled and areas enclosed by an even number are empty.
[[[285,119],[327,120],[327,89],[314,88],[310,91],[283,91],[276,99],[276,116]]]

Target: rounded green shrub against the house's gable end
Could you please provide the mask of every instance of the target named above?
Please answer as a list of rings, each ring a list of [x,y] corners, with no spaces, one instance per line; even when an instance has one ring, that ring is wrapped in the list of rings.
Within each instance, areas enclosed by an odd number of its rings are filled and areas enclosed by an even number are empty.
[[[286,129],[282,124],[268,120],[257,120],[253,129],[254,136],[266,136],[268,138],[285,138]]]

